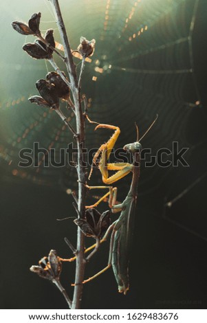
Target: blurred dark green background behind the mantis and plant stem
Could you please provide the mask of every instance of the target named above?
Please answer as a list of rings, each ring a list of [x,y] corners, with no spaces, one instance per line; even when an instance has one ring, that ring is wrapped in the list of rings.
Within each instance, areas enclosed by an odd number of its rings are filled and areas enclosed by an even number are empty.
[[[156,113],[159,118],[142,146],[153,153],[171,148],[173,141],[179,148],[189,147],[188,168],[142,165],[127,296],[118,293],[109,270],[85,285],[82,308],[206,309],[207,3],[60,0],[60,5],[73,49],[80,36],[96,39],[82,89],[91,120],[120,126],[116,148],[135,141],[134,122],[143,134]],[[56,221],[76,215],[69,194],[76,189],[74,168],[44,168],[43,159],[38,168],[18,166],[19,151],[33,148],[34,142],[56,148],[57,155],[72,142],[53,111],[27,100],[37,94],[36,80],[52,69],[23,52],[23,44],[34,39],[17,34],[10,23],[28,21],[39,11],[41,30],[54,28],[60,42],[50,1],[1,3],[1,309],[67,308],[61,293],[29,268],[50,249],[65,258],[72,256],[65,236],[76,243],[73,219]],[[64,68],[58,58],[56,62]],[[76,63],[80,63],[78,58]],[[68,115],[74,124],[73,115]],[[98,148],[109,135],[105,130],[94,133],[94,126],[87,124],[87,147]],[[117,184],[119,201],[126,196],[130,181],[128,175]],[[98,170],[91,183],[101,183]],[[88,203],[92,201],[88,196]],[[98,210],[107,210],[107,204]],[[87,245],[91,243],[93,239],[88,238]],[[107,264],[107,252],[108,245],[102,245],[87,266],[86,277]],[[73,263],[64,265],[61,280],[70,296],[74,269]]]

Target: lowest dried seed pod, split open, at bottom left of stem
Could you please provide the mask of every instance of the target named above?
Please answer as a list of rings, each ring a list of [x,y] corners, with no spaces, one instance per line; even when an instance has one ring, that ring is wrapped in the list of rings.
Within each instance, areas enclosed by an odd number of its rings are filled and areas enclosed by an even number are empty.
[[[57,256],[56,250],[50,250],[47,257],[39,261],[39,266],[30,267],[30,271],[38,274],[41,278],[57,280],[61,276],[62,263]]]

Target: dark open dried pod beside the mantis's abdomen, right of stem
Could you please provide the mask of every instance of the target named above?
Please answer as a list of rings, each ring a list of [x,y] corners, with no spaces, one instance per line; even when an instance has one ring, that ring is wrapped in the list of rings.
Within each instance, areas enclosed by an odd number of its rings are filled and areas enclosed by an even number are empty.
[[[111,223],[111,211],[100,214],[95,208],[85,211],[85,219],[75,219],[74,223],[80,227],[85,236],[100,238]]]

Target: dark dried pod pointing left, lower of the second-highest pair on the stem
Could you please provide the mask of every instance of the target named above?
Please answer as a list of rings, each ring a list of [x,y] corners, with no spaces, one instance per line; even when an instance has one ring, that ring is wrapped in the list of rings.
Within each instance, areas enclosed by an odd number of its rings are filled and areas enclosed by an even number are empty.
[[[36,59],[50,59],[52,58],[52,49],[48,48],[42,41],[36,39],[34,43],[23,45],[23,50],[27,52],[32,58]]]

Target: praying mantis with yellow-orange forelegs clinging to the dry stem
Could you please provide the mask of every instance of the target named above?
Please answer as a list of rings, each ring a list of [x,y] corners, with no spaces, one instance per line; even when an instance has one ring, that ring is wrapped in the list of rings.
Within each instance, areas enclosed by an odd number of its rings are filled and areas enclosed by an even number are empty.
[[[157,117],[152,122],[151,126],[149,126],[149,129],[147,129],[144,135],[142,135],[142,138],[151,129],[151,127],[157,120]],[[88,117],[87,119],[89,120]],[[97,124],[97,122],[93,122],[91,120],[89,120],[89,122]],[[109,207],[111,208],[111,212],[121,213],[119,218],[109,226],[107,232],[105,233],[105,236],[103,236],[102,240],[100,241],[101,243],[103,241],[106,241],[111,232],[109,260],[107,267],[99,271],[94,276],[91,276],[87,280],[84,280],[83,283],[93,280],[112,266],[113,274],[118,284],[118,291],[120,293],[124,293],[125,295],[129,290],[129,250],[131,247],[131,236],[133,232],[133,221],[135,217],[135,205],[138,197],[138,181],[140,177],[140,152],[142,150],[142,145],[140,144],[140,141],[142,140],[142,138],[140,138],[139,140],[138,126],[136,126],[136,142],[133,142],[132,144],[126,144],[123,147],[124,151],[132,153],[132,164],[108,164],[107,161],[109,160],[109,156],[111,154],[113,146],[116,144],[118,136],[120,135],[120,129],[118,126],[111,126],[109,124],[98,124],[98,126],[96,126],[95,131],[100,128],[115,130],[115,132],[107,141],[107,143],[102,144],[102,146],[100,146],[100,148],[94,155],[93,164],[96,164],[96,160],[101,154],[98,168],[100,169],[100,172],[102,174],[102,181],[105,184],[111,185],[112,183],[119,181],[120,179],[128,175],[129,172],[132,172],[132,180],[127,197],[120,204],[116,204],[117,188],[113,188],[112,186],[87,186],[90,190],[94,188],[108,188],[109,192],[107,192],[107,194],[105,194],[96,203],[94,203],[94,205],[87,206],[86,208],[96,208],[101,201],[105,200],[105,198],[109,196]],[[93,169],[92,167],[91,172]],[[117,172],[109,177],[109,170],[117,170]],[[91,177],[91,172],[89,174],[89,178]],[[89,247],[85,250],[85,252],[89,251],[89,249],[92,249],[95,246],[96,245]]]

